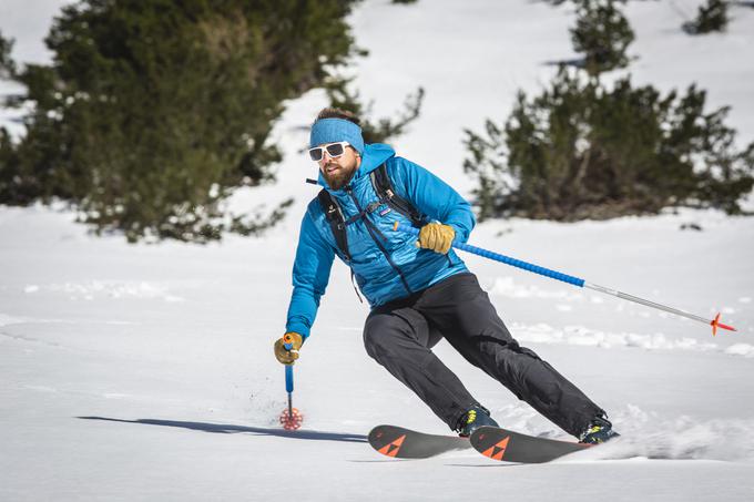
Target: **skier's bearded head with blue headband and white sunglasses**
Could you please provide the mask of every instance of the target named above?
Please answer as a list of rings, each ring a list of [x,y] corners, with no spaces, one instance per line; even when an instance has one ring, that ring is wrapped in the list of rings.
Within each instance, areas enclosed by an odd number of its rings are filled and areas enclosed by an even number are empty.
[[[359,120],[345,110],[324,109],[312,124],[309,153],[327,185],[343,188],[361,165],[364,139]]]

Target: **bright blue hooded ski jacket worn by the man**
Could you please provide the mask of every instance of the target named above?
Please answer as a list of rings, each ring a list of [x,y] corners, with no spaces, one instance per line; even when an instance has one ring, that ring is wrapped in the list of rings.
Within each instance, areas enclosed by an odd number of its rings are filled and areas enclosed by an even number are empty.
[[[318,183],[337,201],[344,218],[348,221],[369,204],[379,201],[369,173],[383,163],[398,195],[410,201],[429,221],[452,226],[456,242],[468,240],[475,225],[469,203],[429,171],[397,157],[388,145],[366,145],[359,168],[342,189],[332,189],[322,173]],[[351,255],[348,262],[337,247],[319,201],[315,197],[309,203],[298,236],[286,331],[296,331],[304,339],[309,336],[336,255],[350,266],[371,308],[407,297],[467,270],[452,249],[442,255],[418,248],[416,236],[393,229],[395,222],[411,224],[403,214],[381,205],[347,225],[348,250]]]

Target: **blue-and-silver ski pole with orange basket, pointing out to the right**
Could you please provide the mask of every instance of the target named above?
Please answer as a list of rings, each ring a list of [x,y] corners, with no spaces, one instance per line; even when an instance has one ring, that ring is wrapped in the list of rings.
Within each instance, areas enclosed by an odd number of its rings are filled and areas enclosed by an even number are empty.
[[[406,233],[414,234],[414,235],[419,235],[418,228],[414,228],[411,226],[400,224],[398,222],[395,223],[393,229],[406,232]],[[568,275],[568,274],[562,274],[560,272],[556,272],[556,270],[551,270],[549,268],[540,267],[539,265],[534,265],[534,264],[530,264],[528,262],[522,262],[520,259],[511,258],[510,256],[506,256],[506,255],[501,255],[499,253],[493,253],[491,250],[482,249],[481,247],[471,246],[469,244],[458,243],[458,242],[454,242],[452,247],[455,247],[456,249],[461,249],[461,250],[465,250],[465,252],[468,252],[468,253],[472,253],[475,255],[479,255],[483,258],[489,258],[489,259],[493,259],[496,262],[501,262],[501,263],[503,263],[506,265],[510,265],[512,267],[517,267],[517,268],[521,268],[523,270],[532,272],[534,274],[539,274],[539,275],[544,276],[544,277],[550,277],[551,279],[561,280],[563,283],[568,283],[568,284],[571,284],[573,286],[593,289],[595,291],[604,293],[605,295],[612,295],[612,296],[615,296],[618,298],[622,298],[624,300],[634,301],[636,304],[641,304],[641,305],[644,305],[646,307],[656,308],[659,310],[663,310],[663,311],[666,311],[666,313],[670,313],[670,314],[674,314],[674,315],[680,316],[680,317],[685,317],[687,319],[696,320],[699,322],[704,322],[705,325],[712,326],[712,336],[717,335],[717,328],[727,329],[730,331],[736,331],[736,329],[734,327],[724,325],[720,321],[720,313],[717,313],[717,315],[715,316],[714,319],[705,319],[704,317],[695,316],[693,314],[689,314],[689,313],[680,310],[677,308],[668,307],[668,306],[661,305],[661,304],[655,304],[654,301],[650,301],[650,300],[646,300],[644,298],[639,298],[638,296],[621,293],[621,291],[618,291],[615,289],[607,288],[604,286],[599,286],[597,284],[587,283],[584,279],[580,279],[579,277],[573,277],[573,276]]]

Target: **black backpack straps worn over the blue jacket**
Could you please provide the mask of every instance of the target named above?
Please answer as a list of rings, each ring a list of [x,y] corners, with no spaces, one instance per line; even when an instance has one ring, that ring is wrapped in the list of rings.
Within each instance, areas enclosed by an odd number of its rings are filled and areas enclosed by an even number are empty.
[[[350,225],[357,219],[366,218],[368,213],[375,212],[383,204],[386,204],[391,209],[397,211],[398,213],[406,216],[408,219],[410,219],[411,225],[415,227],[420,227],[427,223],[427,217],[422,215],[414,206],[414,204],[396,194],[395,189],[393,189],[393,184],[390,183],[390,177],[387,175],[387,168],[385,167],[385,164],[369,173],[369,177],[371,178],[371,186],[375,188],[375,193],[379,199],[373,202],[365,209],[363,209],[361,213],[351,216],[348,219],[344,217],[340,206],[338,205],[337,201],[333,198],[329,192],[327,192],[327,189],[323,188],[317,194],[319,205],[322,205],[322,209],[325,212],[325,217],[327,218],[330,229],[333,230],[335,243],[337,244],[338,249],[340,249],[343,255],[346,257],[346,263],[348,263],[349,266],[351,257],[350,252],[348,250],[346,226]],[[307,180],[307,182],[317,183],[313,180]]]

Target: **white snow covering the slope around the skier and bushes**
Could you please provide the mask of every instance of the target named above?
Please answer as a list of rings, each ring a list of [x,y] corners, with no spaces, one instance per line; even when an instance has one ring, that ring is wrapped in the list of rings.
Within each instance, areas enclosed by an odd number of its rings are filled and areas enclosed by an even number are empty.
[[[18,59],[49,58],[41,27],[63,3],[3,2],[0,29],[18,39]],[[634,80],[665,90],[699,82],[713,105],[732,105],[748,142],[754,10],[735,9],[724,35],[691,39],[679,11],[699,3],[629,3]],[[502,120],[517,89],[534,93],[552,75],[544,61],[573,57],[566,6],[374,0],[351,21],[370,51],[353,72],[378,116],[427,90],[399,153],[465,194],[462,130]],[[605,408],[621,440],[533,467],[469,451],[427,461],[374,453],[364,440],[377,423],[447,430],[365,354],[368,308],[340,264],[295,366],[304,429],[282,431],[284,371],[272,342],[314,195],[303,183],[314,174],[299,152],[303,127],[325,102],[313,91],[288,104],[275,130],[286,153],[278,183],[228,202],[248,211],[296,198],[263,238],[128,245],[90,235],[61,207],[0,207],[0,500],[754,500],[754,221],[716,212],[500,221],[471,237],[705,317],[722,311],[738,331],[714,338],[691,320],[463,255],[513,335]],[[681,230],[687,223],[703,230]],[[437,352],[499,422],[564,439],[447,344]]]

